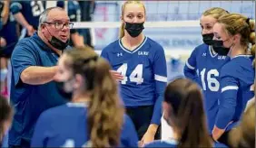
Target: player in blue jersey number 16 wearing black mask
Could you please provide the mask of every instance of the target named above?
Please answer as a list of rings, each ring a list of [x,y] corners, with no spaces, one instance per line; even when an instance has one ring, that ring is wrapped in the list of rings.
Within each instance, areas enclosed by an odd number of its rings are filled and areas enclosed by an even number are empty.
[[[212,128],[218,112],[220,71],[222,66],[229,60],[228,57],[216,51],[217,49],[212,48],[212,27],[222,14],[228,13],[219,7],[213,7],[202,14],[200,25],[204,43],[192,51],[192,55],[184,67],[186,78],[192,79],[202,87],[209,134],[212,134]]]

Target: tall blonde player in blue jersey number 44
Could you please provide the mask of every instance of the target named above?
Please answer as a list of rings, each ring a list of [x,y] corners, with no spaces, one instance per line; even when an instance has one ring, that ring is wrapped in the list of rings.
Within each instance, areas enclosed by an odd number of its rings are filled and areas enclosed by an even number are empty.
[[[162,46],[143,35],[145,7],[140,1],[127,1],[122,7],[120,39],[102,51],[113,70],[123,75],[121,96],[143,143],[157,137],[161,122],[161,102],[167,82]]]

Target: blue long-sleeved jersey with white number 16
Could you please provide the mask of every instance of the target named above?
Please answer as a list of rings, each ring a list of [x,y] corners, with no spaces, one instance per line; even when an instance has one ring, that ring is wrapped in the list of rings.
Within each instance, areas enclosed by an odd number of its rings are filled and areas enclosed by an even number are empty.
[[[227,56],[213,53],[211,48],[204,43],[196,47],[184,66],[186,78],[192,79],[202,87],[209,134],[212,134],[218,113],[221,69],[230,60]]]

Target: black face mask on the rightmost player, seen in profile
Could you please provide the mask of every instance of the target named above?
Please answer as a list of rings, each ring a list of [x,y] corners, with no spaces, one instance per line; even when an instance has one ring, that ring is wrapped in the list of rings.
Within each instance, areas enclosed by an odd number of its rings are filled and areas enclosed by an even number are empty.
[[[223,41],[212,40],[212,49],[219,55],[227,56],[231,48],[226,48],[223,46]]]

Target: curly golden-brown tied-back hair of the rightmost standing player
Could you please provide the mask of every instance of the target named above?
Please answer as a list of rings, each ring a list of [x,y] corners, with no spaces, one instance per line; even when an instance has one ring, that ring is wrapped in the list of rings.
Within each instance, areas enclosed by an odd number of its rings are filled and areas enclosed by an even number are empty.
[[[218,19],[218,23],[222,23],[229,34],[240,34],[241,45],[245,47],[246,51],[251,43],[251,55],[255,56],[255,20],[242,14],[224,14]]]

